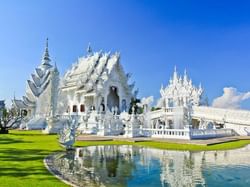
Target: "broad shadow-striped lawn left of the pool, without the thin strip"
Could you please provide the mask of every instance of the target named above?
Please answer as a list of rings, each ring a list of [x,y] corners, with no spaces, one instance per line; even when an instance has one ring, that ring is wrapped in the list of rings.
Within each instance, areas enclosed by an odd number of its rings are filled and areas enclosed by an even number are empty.
[[[0,134],[0,186],[67,186],[51,175],[43,164],[45,156],[62,150],[56,139],[56,135],[43,135],[38,131]]]

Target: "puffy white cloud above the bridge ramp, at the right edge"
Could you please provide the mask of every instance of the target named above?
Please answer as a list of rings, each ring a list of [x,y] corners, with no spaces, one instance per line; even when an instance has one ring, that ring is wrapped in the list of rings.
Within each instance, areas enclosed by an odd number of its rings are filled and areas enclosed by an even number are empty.
[[[217,108],[240,108],[242,101],[250,99],[250,92],[241,93],[236,88],[225,87],[222,96],[213,100],[212,106]]]

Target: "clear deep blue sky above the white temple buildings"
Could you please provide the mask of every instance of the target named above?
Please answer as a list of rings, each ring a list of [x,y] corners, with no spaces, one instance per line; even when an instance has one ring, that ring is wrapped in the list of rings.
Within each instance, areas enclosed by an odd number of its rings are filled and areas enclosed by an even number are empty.
[[[86,53],[120,51],[140,97],[159,97],[174,66],[209,100],[250,90],[249,1],[41,0],[0,2],[0,99],[21,97],[45,39],[61,75]],[[250,102],[243,104],[250,108]]]

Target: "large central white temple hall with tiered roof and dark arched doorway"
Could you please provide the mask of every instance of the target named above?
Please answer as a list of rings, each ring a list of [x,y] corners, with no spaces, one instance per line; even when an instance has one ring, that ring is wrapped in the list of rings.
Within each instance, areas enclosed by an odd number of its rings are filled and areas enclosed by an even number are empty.
[[[134,84],[120,64],[120,54],[92,52],[81,57],[62,78],[59,113],[127,111]]]

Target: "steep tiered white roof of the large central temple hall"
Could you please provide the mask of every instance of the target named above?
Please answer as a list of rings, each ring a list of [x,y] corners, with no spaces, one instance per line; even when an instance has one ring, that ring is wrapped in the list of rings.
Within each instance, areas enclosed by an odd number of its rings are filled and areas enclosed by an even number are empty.
[[[86,56],[78,58],[71,69],[66,72],[62,89],[76,89],[86,93],[101,90],[114,67],[119,69],[123,81],[127,84],[130,75],[125,74],[119,62],[119,53],[92,52],[90,46],[88,46],[87,52]],[[130,85],[128,89],[132,90],[133,87],[134,84]]]

